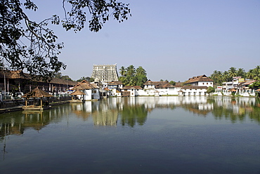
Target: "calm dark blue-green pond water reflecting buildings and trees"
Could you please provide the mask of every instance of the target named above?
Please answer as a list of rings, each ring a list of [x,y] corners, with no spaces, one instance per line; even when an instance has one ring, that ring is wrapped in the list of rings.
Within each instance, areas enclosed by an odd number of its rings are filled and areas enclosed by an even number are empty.
[[[0,114],[0,173],[260,173],[256,98],[138,97]]]

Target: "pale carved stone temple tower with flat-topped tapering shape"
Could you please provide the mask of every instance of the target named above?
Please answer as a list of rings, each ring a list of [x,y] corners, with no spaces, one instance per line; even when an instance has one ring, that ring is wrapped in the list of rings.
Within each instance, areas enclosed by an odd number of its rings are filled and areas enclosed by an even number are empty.
[[[93,79],[99,79],[102,82],[118,81],[117,64],[93,65],[91,77]]]

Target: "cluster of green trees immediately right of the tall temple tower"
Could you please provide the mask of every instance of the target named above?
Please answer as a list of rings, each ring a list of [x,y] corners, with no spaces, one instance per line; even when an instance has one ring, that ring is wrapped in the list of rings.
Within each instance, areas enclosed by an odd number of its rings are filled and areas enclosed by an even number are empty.
[[[139,66],[135,69],[134,65],[129,67],[121,67],[119,69],[119,81],[122,81],[124,86],[143,86],[147,81],[146,71],[143,67]]]

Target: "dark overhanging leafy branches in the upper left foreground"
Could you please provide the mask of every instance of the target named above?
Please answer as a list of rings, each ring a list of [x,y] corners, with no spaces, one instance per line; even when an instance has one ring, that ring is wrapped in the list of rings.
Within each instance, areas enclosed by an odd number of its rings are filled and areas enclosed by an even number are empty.
[[[110,16],[119,22],[128,19],[129,4],[116,0],[62,0],[65,17],[58,15],[46,17],[41,22],[30,20],[25,11],[37,11],[31,0],[0,0],[0,53],[1,62],[10,70],[25,70],[34,78],[48,80],[65,69],[66,65],[58,60],[63,43],[57,43],[58,36],[48,25],[62,26],[74,32],[84,28],[98,32]],[[70,6],[70,9],[66,9]],[[87,18],[87,15],[90,18]]]

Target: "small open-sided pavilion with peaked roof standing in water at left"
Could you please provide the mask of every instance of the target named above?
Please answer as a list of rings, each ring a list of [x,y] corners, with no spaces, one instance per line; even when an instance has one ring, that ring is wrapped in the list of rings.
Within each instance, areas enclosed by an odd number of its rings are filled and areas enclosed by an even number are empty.
[[[42,91],[41,89],[34,88],[29,93],[26,93],[25,95],[22,96],[22,98],[26,98],[25,100],[25,106],[22,107],[25,110],[43,110],[43,109],[48,109],[48,98],[53,97],[53,95],[50,95],[49,93]],[[28,101],[30,98],[33,98],[33,105],[28,105]],[[43,105],[43,98],[47,98],[46,105]],[[38,99],[38,100],[36,100]],[[38,104],[38,105],[37,105]]]

